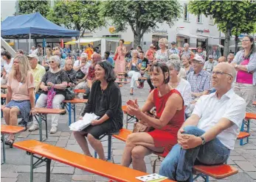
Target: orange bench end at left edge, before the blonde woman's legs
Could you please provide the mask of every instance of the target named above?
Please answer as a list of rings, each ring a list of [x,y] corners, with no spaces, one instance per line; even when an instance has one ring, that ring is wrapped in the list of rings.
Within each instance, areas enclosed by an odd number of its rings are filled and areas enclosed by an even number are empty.
[[[1,125],[1,141],[2,141],[2,145],[3,145],[3,162],[1,164],[4,164],[6,161],[4,134],[18,134],[18,133],[21,133],[21,131],[24,131],[25,129],[26,128],[24,128],[24,127],[20,127],[20,126],[16,126],[16,125]]]

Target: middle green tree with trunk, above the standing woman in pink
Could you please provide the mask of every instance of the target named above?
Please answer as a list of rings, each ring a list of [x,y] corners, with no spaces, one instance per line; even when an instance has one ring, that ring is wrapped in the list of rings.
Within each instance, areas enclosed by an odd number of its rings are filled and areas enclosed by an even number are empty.
[[[159,23],[173,26],[181,14],[178,1],[103,1],[101,14],[113,22],[116,32],[128,26],[134,33],[134,46],[139,45],[145,32],[156,29]]]

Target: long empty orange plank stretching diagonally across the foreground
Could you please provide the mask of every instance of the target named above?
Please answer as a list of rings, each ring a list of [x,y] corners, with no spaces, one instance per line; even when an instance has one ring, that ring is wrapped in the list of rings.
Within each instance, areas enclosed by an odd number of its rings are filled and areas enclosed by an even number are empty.
[[[38,154],[48,159],[59,161],[63,164],[77,167],[80,170],[86,170],[88,172],[104,176],[105,178],[111,178],[112,180],[116,181],[139,182],[139,180],[136,180],[136,176],[148,175],[148,173],[145,172],[132,170],[128,167],[123,167],[119,164],[113,164],[108,161],[94,159],[81,153],[75,153],[70,150],[58,148],[53,145],[38,142],[35,140],[15,142],[13,146],[15,148],[27,150],[30,153]],[[173,181],[165,180],[165,182]]]

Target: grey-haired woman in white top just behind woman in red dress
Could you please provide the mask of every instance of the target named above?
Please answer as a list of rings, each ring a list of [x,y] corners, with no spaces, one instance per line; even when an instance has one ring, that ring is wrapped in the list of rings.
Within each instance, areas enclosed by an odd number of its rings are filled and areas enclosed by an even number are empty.
[[[187,107],[190,106],[190,101],[192,100],[190,83],[178,76],[179,71],[181,70],[181,62],[179,60],[170,60],[167,62],[167,66],[170,70],[169,84],[181,93],[186,111]]]

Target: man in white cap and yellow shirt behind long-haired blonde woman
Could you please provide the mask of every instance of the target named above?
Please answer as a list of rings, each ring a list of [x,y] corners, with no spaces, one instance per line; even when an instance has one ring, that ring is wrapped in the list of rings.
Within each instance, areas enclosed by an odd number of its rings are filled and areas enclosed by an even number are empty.
[[[30,54],[27,56],[30,61],[32,75],[35,83],[35,92],[38,92],[41,80],[46,73],[44,66],[38,64],[38,56],[36,54]]]

